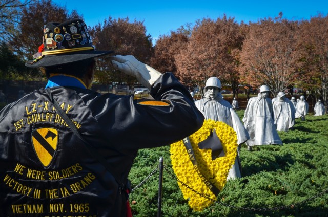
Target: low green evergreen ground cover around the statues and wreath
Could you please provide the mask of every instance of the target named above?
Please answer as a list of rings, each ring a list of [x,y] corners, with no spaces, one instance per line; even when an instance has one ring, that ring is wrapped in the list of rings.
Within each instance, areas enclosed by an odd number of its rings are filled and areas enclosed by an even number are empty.
[[[242,118],[244,110],[237,114]],[[218,202],[202,212],[183,199],[168,146],[139,150],[129,179],[134,188],[163,157],[162,216],[328,216],[327,125],[328,115],[310,114],[305,121],[297,119],[294,130],[278,132],[283,145],[247,151],[243,144],[242,178],[228,181]],[[133,216],[156,216],[157,195],[158,171],[130,194]]]

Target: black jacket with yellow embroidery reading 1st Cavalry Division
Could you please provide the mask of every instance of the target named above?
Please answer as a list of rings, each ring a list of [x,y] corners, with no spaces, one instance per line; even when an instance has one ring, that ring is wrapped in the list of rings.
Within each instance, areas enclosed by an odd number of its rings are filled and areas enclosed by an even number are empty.
[[[149,105],[133,95],[58,86],[51,94],[111,166],[92,157],[44,89],[0,112],[0,216],[125,216],[125,182],[138,149],[169,145],[199,129],[203,116],[170,73]],[[153,103],[150,103],[153,104]]]

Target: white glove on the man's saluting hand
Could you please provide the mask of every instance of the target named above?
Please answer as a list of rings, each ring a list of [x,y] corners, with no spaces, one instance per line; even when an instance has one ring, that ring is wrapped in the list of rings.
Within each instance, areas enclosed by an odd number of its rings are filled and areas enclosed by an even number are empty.
[[[151,68],[145,63],[138,61],[134,56],[111,56],[113,67],[128,75],[134,75],[137,80],[149,90],[157,81],[160,72]]]

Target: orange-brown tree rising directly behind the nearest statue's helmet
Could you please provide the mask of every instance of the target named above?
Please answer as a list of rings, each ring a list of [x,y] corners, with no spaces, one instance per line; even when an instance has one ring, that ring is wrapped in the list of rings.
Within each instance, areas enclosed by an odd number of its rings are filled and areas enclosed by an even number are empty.
[[[197,20],[186,49],[176,55],[177,76],[184,83],[202,86],[210,77],[238,82],[238,52],[243,37],[234,18]],[[238,85],[236,85],[238,86]]]

